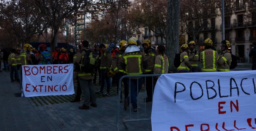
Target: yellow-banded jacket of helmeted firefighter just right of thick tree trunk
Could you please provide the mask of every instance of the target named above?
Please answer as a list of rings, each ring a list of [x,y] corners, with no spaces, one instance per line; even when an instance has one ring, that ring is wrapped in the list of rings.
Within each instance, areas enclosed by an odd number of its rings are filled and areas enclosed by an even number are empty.
[[[189,62],[189,56],[188,56],[188,53],[187,52],[182,52],[180,54],[180,66],[177,68],[178,71],[181,71],[181,70],[187,70],[187,71],[190,71],[190,67],[191,67],[191,64]]]

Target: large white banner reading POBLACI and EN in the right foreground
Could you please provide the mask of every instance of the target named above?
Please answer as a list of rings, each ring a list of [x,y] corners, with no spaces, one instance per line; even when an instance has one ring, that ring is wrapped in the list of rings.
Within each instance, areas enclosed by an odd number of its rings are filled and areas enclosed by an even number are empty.
[[[153,131],[256,131],[256,71],[163,74]]]

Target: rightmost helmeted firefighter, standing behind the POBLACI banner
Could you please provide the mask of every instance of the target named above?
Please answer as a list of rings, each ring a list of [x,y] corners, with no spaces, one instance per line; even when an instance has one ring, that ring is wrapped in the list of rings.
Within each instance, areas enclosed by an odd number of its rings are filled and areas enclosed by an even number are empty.
[[[228,52],[228,48],[230,48],[230,42],[228,40],[223,40],[221,42],[221,52],[217,60],[218,71],[229,71],[232,59],[231,54]]]

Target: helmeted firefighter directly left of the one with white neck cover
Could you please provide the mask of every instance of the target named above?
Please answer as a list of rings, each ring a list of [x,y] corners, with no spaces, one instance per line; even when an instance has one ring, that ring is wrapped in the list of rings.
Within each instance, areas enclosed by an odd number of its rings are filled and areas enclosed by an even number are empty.
[[[114,55],[112,55],[112,70],[116,74],[116,84],[117,84],[117,93],[119,91],[119,80],[122,76],[126,75],[125,71],[121,67],[121,57],[123,56],[123,53],[125,52],[128,44],[125,40],[121,40],[119,42],[119,48],[120,50],[116,52]],[[123,83],[125,86],[125,99],[128,98],[128,93],[129,93],[129,87],[128,87],[128,79],[125,78],[123,79]],[[121,87],[120,87],[121,89]],[[121,96],[120,96],[120,102],[123,101],[123,96],[122,96],[122,90],[121,90]]]

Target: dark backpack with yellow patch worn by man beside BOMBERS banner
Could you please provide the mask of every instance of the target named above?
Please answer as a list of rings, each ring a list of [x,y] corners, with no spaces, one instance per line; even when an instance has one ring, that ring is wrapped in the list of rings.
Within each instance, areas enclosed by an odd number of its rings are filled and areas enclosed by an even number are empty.
[[[98,64],[99,54],[97,52],[93,52],[92,50],[81,50],[85,51],[85,55],[83,55],[80,65],[80,70],[86,73],[91,73],[93,76],[93,72],[95,71],[95,66]]]

